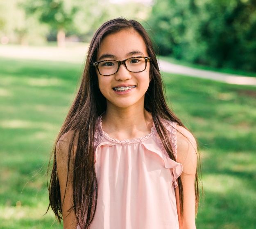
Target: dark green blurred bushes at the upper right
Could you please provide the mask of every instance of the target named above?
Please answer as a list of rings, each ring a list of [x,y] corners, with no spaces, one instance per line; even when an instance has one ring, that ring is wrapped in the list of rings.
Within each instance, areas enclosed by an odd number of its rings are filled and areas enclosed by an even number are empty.
[[[149,24],[161,55],[256,71],[256,0],[158,0]]]

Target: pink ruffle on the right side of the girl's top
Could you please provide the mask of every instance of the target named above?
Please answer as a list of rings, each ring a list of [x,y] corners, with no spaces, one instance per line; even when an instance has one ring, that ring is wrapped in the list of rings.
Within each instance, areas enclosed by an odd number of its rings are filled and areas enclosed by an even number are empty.
[[[141,144],[143,144],[143,146],[147,150],[159,155],[163,159],[165,168],[169,168],[169,169],[172,168],[172,176],[173,176],[172,184],[174,188],[176,188],[178,186],[176,180],[181,175],[183,170],[182,164],[175,162],[174,160],[170,159],[170,157],[167,157],[164,153],[162,153],[161,149],[158,146],[156,146],[154,143],[143,141]]]

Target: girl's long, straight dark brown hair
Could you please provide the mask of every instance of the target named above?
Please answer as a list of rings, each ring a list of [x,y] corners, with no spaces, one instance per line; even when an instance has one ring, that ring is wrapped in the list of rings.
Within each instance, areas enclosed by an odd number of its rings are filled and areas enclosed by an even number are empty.
[[[49,207],[52,208],[57,220],[60,222],[62,219],[62,203],[57,173],[56,145],[62,135],[67,132],[72,132],[73,137],[68,149],[68,168],[70,167],[70,163],[72,163],[73,170],[71,171],[72,174],[69,174],[70,172],[68,169],[67,177],[67,180],[69,176],[72,177],[73,188],[73,206],[70,211],[75,212],[75,216],[79,224],[82,225],[84,229],[88,228],[91,224],[97,206],[98,190],[94,167],[94,133],[97,117],[106,110],[106,99],[98,88],[97,74],[92,63],[97,61],[97,52],[104,37],[124,29],[131,29],[140,34],[145,42],[148,56],[152,59],[150,63],[151,81],[145,94],[144,106],[147,111],[151,112],[155,128],[161,138],[163,146],[170,158],[174,161],[176,161],[176,158],[168,137],[168,132],[165,130],[161,119],[174,121],[178,123],[179,126],[186,128],[180,119],[174,115],[167,106],[156,54],[154,52],[150,36],[147,34],[143,26],[136,20],[126,20],[124,18],[116,18],[105,22],[96,31],[93,39],[91,40],[81,85],[56,139],[54,150],[52,152],[53,165],[50,183],[48,186],[50,197]],[[75,158],[72,160],[71,151],[74,146],[75,136],[77,138],[75,143],[77,149],[75,152]],[[183,216],[183,186],[181,177],[178,178],[178,185],[181,216]],[[197,173],[195,178],[195,196],[196,202],[198,203],[199,191]]]

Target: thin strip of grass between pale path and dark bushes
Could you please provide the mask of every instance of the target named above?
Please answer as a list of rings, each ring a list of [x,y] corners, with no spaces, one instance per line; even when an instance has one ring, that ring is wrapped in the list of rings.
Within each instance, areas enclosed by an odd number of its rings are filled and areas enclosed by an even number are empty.
[[[243,71],[243,70],[234,70],[234,69],[231,69],[231,68],[209,67],[209,66],[206,66],[206,65],[193,64],[193,63],[189,63],[189,62],[186,62],[186,61],[177,60],[175,58],[168,57],[168,56],[160,56],[159,58],[163,61],[168,61],[170,63],[174,63],[174,64],[177,64],[177,65],[183,65],[183,66],[186,66],[186,67],[193,67],[193,68],[197,68],[197,69],[201,69],[201,70],[256,77],[256,72],[248,72],[248,71]]]

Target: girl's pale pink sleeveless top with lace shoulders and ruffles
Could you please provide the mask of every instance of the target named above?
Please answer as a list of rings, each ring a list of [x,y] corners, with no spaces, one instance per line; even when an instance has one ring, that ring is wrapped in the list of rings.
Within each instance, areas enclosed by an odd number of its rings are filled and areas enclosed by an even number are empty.
[[[176,123],[164,125],[177,156]],[[95,171],[98,198],[90,229],[179,228],[174,188],[182,165],[170,159],[154,124],[147,136],[120,141],[102,130],[100,116]]]

